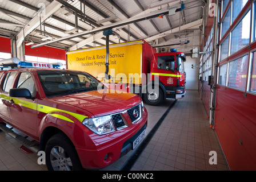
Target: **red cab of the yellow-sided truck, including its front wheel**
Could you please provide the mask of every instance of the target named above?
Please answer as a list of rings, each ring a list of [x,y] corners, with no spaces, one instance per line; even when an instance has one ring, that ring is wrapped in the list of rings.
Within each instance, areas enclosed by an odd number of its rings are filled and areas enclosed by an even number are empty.
[[[170,52],[155,53],[151,60],[151,79],[159,86],[159,92],[145,94],[145,101],[159,104],[165,99],[180,99],[184,97],[186,72],[184,70],[186,56],[176,49]],[[157,78],[156,78],[157,77]],[[158,103],[159,102],[159,103]]]

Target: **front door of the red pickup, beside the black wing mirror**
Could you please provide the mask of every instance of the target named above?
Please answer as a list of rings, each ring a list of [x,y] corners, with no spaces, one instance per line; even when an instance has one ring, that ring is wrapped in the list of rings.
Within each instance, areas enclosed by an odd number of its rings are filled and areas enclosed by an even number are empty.
[[[14,88],[29,89],[33,99],[11,98],[10,118],[13,125],[17,126],[23,133],[36,136],[37,133],[37,99],[35,99],[35,82],[29,72],[21,72]]]

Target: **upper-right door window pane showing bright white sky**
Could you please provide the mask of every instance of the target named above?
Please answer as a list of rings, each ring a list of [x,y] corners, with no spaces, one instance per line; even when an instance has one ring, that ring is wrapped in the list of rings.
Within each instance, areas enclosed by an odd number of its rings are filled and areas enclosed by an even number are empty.
[[[246,16],[238,23],[237,27],[231,32],[231,54],[239,51],[239,49],[250,43],[250,16],[249,11]]]

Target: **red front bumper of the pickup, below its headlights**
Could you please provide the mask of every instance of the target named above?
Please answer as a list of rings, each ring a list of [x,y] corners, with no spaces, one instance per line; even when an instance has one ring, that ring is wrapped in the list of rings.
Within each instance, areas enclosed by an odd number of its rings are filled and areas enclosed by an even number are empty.
[[[107,146],[101,144],[103,147],[97,149],[76,148],[82,167],[98,169],[114,163],[132,150],[133,140],[146,129],[146,126],[147,111],[143,114],[141,121],[133,126],[105,135],[105,137],[113,140]]]

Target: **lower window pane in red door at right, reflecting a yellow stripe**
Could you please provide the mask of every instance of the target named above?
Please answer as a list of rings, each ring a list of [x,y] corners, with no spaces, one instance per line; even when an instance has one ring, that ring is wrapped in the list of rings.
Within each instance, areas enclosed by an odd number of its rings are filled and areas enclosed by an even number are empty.
[[[248,69],[248,55],[240,57],[237,60],[231,61],[229,63],[229,78],[228,78],[227,86],[245,90],[246,79],[247,79],[247,69]]]

